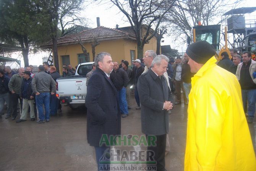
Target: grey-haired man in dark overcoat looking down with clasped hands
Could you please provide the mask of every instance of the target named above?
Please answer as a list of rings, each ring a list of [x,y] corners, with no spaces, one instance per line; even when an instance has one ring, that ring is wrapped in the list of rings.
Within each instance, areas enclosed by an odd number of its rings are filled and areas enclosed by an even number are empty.
[[[141,129],[146,136],[156,137],[156,146],[148,146],[154,152],[157,171],[165,171],[166,134],[169,132],[169,114],[172,109],[172,94],[163,76],[169,59],[157,55],[151,68],[139,77],[138,93],[141,102]]]

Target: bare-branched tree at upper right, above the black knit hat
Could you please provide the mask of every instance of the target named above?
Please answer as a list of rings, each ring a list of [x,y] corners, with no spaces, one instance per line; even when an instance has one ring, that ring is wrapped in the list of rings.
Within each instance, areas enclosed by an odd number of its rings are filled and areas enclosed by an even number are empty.
[[[177,1],[175,8],[169,10],[165,21],[170,22],[170,34],[185,42],[186,37],[193,40],[192,28],[200,21],[202,25],[220,24],[220,16],[237,6],[242,0],[230,2],[226,0],[183,0]]]

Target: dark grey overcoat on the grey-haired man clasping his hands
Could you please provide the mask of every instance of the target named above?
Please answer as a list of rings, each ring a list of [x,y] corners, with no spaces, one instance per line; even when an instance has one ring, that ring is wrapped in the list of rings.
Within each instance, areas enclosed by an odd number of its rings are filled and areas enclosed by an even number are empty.
[[[163,135],[169,132],[169,113],[162,110],[165,101],[172,101],[172,93],[164,76],[161,79],[149,69],[139,77],[141,102],[141,129],[146,135]]]

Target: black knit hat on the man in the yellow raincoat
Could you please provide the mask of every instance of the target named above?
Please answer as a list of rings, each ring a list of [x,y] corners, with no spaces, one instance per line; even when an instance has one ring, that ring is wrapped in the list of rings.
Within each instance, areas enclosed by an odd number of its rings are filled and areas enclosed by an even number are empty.
[[[215,53],[214,47],[206,41],[192,43],[186,50],[186,54],[199,64],[205,64]]]

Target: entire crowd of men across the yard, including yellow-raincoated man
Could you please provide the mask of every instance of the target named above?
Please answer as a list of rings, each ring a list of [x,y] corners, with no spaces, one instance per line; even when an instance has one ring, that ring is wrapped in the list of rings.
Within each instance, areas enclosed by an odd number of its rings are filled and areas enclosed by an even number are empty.
[[[103,134],[121,134],[121,117],[129,115],[133,88],[136,109],[141,110],[142,133],[156,137],[156,145],[149,145],[147,150],[154,152],[157,171],[166,171],[169,114],[173,104],[181,104],[182,92],[184,104],[188,105],[185,171],[255,171],[255,154],[246,122],[252,123],[255,113],[256,62],[250,52],[243,52],[241,57],[232,49],[230,54],[231,60],[224,52],[217,62],[213,46],[199,41],[188,46],[183,58],[175,60],[148,50],[143,59],[132,61],[132,68],[128,61],[122,60],[120,65],[113,62],[109,53],[97,54],[86,75],[85,104],[87,141],[95,149],[98,169],[100,158],[110,149],[106,144],[100,145],[100,139]],[[7,67],[5,72],[0,70],[0,113],[2,101],[6,101],[6,118],[12,116],[15,120],[20,101],[22,113],[16,122],[26,121],[28,108],[31,111],[36,104],[37,123],[44,123],[60,106],[55,96],[60,74],[47,62],[39,66],[38,73],[31,76],[31,72],[29,67],[26,71],[20,68],[18,74]],[[63,66],[63,76],[73,74],[71,66]],[[36,110],[30,112],[32,121]]]

